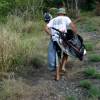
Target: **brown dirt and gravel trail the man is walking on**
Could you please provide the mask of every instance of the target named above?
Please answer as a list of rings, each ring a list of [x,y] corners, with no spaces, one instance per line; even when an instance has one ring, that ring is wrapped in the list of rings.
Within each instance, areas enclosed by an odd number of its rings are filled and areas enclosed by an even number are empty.
[[[100,34],[98,33],[82,33],[85,41],[91,41],[95,45],[98,43],[96,51],[100,53]],[[98,54],[97,52],[97,54]],[[100,70],[100,62],[93,63],[88,60],[88,53],[83,62],[79,60],[69,60],[66,65],[67,72],[62,76],[60,81],[54,80],[54,72],[49,72],[47,66],[40,69],[34,69],[28,76],[28,82],[33,87],[32,97],[34,100],[67,100],[67,96],[74,96],[76,100],[86,100],[87,93],[79,87],[79,82],[86,77],[83,75],[83,70],[87,66],[95,67]],[[99,85],[100,80],[92,80],[94,84]],[[33,100],[33,99],[27,99]]]

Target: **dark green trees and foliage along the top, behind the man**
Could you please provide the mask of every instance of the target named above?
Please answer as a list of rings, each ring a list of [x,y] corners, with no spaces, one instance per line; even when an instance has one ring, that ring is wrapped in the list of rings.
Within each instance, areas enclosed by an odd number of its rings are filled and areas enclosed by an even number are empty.
[[[92,10],[95,8],[96,0],[84,0],[85,6],[81,9]],[[81,3],[79,1],[79,3]],[[81,3],[80,5],[84,5]],[[42,16],[43,10],[52,7],[65,6],[69,15],[79,16],[78,1],[75,0],[1,0],[0,1],[0,16],[14,14],[23,16],[26,19],[36,19]],[[80,6],[81,7],[81,6]]]

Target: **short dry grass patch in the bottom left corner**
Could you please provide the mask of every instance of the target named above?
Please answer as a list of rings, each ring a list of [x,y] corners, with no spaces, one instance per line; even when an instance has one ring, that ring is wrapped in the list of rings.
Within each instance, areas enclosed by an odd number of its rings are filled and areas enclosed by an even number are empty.
[[[3,80],[1,84],[0,100],[24,100],[25,98],[33,98],[34,88],[26,84],[23,79]]]

